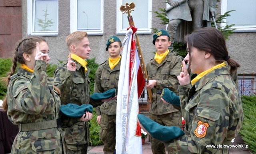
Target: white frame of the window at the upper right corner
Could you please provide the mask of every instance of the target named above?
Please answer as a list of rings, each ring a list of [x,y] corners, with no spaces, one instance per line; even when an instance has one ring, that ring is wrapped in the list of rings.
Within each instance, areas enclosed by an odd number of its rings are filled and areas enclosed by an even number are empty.
[[[230,11],[227,10],[227,5],[228,5],[228,0],[222,0],[221,1],[221,14],[223,15],[225,12]],[[224,19],[224,22],[227,22],[226,18]],[[226,23],[221,23],[221,27],[225,27],[227,24]],[[234,29],[233,32],[256,32],[256,26],[232,26],[231,28],[228,29]]]

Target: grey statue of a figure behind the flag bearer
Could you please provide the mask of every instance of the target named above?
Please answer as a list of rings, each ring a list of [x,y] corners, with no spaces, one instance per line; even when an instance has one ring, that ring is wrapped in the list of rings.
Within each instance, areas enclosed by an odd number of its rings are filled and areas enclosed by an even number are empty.
[[[197,28],[210,27],[210,16],[216,15],[216,0],[168,0],[168,4],[167,31],[172,45],[184,42],[184,36]]]

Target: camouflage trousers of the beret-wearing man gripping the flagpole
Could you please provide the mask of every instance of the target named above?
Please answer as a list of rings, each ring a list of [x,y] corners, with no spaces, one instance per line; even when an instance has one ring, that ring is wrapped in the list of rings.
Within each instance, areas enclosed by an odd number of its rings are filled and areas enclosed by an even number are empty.
[[[182,114],[179,111],[163,114],[163,115],[155,115],[155,114],[149,113],[149,118],[163,126],[177,126],[181,128],[181,125],[182,125]],[[152,137],[151,137],[151,150],[153,154],[166,154],[164,143]],[[171,153],[168,152],[168,154],[171,154]]]

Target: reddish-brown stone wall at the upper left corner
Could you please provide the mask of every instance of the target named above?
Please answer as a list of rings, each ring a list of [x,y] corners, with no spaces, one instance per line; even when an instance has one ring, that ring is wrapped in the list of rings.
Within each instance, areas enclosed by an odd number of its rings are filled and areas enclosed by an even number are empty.
[[[22,38],[21,0],[0,0],[0,57],[12,57],[12,50]]]

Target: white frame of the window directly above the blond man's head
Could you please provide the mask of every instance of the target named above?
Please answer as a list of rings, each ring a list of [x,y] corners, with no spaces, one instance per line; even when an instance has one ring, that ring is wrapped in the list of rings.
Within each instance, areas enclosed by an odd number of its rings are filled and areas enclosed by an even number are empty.
[[[79,30],[87,32],[88,35],[103,35],[104,27],[104,0],[100,0],[100,30]],[[70,33],[77,30],[77,0],[70,0]]]

